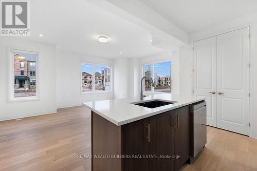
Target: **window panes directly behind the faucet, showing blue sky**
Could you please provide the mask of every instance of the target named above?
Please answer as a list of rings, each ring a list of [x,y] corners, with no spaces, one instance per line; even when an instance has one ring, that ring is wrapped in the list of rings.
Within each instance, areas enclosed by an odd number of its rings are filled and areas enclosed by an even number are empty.
[[[171,92],[171,61],[143,65],[143,75],[153,78],[155,87],[151,87],[150,79],[144,81],[144,91]]]

